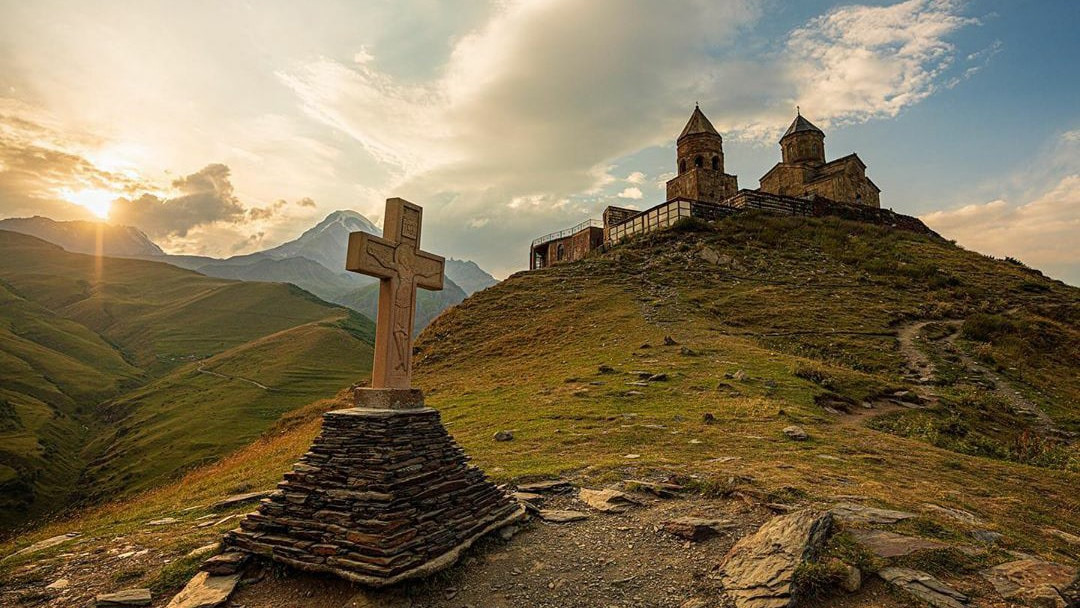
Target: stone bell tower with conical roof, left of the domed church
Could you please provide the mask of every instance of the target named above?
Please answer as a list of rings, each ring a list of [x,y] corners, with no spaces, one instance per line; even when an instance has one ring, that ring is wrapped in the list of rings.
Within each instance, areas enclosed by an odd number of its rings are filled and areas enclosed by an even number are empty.
[[[667,181],[667,200],[720,203],[739,190],[739,179],[724,173],[724,138],[696,104],[675,141],[678,175]]]

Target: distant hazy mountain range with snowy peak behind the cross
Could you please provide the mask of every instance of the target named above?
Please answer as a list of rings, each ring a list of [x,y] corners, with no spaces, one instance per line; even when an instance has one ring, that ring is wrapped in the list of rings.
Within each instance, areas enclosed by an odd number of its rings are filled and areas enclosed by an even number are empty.
[[[378,280],[347,272],[343,267],[350,232],[381,234],[381,230],[353,211],[336,211],[293,241],[226,259],[165,254],[138,229],[100,222],[36,216],[0,220],[0,230],[32,234],[73,253],[100,251],[103,255],[162,261],[219,279],[292,283],[368,316],[376,312]],[[496,283],[475,262],[447,259],[443,291],[421,289],[417,295],[414,330],[419,333],[442,311]]]

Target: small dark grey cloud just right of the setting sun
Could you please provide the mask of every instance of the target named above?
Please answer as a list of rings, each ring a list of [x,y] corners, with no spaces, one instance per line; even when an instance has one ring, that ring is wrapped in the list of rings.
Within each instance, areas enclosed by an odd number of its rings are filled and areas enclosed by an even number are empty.
[[[143,194],[117,199],[109,212],[113,224],[135,226],[151,237],[186,237],[192,228],[217,221],[242,222],[245,211],[232,191],[229,167],[210,164],[173,181],[179,197]]]

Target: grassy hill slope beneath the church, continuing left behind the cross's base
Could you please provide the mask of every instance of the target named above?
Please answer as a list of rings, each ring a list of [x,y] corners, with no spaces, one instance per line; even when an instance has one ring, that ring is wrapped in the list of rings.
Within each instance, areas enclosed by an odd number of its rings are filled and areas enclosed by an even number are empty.
[[[674,476],[756,502],[859,496],[921,513],[920,533],[971,542],[968,524],[923,506],[944,504],[1002,533],[1005,549],[1076,564],[1076,549],[1048,529],[1080,529],[1069,438],[1080,409],[1078,307],[1074,287],[936,239],[740,216],[519,273],[468,298],[420,336],[416,383],[499,481],[564,475],[596,487]],[[923,342],[940,347],[927,349],[939,366],[927,380],[909,369],[912,344]],[[998,401],[1000,391],[980,384],[990,378],[960,365],[969,360],[1049,422]],[[909,409],[897,391],[933,398]],[[124,536],[177,558],[124,580],[175,589],[195,566],[186,551],[234,525],[186,525],[201,505],[273,487],[318,432],[318,415],[340,405],[294,410],[176,484],[0,553],[76,529],[80,551]],[[810,440],[787,438],[789,424]],[[495,442],[503,429],[514,440]],[[145,526],[166,515],[185,525]]]

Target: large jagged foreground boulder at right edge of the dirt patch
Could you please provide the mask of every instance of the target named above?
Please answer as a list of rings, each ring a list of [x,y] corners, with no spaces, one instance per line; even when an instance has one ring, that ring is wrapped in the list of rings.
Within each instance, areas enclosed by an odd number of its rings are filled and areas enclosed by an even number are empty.
[[[725,592],[738,608],[793,606],[795,571],[816,557],[832,528],[833,516],[816,511],[769,519],[725,555],[718,576]]]

